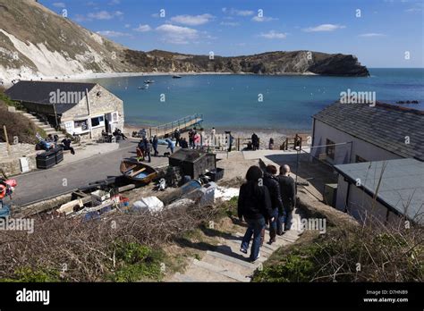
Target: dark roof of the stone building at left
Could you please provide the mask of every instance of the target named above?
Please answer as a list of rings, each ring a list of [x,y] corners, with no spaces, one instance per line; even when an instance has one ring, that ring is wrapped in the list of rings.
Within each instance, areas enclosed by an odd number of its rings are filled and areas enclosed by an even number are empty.
[[[5,91],[5,94],[11,99],[21,102],[53,105],[50,103],[50,93],[56,92],[82,92],[89,91],[94,88],[96,83],[80,83],[80,82],[55,82],[55,81],[19,81],[12,88]],[[57,113],[64,113],[78,103],[62,103],[56,104]]]

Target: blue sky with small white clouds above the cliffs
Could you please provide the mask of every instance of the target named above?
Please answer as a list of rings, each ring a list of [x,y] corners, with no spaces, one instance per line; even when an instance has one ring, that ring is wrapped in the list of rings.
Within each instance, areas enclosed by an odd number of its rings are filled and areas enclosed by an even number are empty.
[[[369,67],[424,67],[420,0],[39,2],[142,51],[228,56],[310,50],[356,55]]]

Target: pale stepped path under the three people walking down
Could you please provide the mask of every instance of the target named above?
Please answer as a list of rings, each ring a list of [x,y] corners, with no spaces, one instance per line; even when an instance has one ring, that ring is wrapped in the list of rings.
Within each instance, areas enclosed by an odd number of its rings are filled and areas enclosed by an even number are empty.
[[[170,282],[250,282],[251,276],[257,269],[262,268],[262,263],[280,247],[293,244],[301,234],[299,223],[301,217],[293,212],[293,230],[287,231],[283,236],[277,236],[276,243],[268,245],[269,231],[266,231],[265,241],[260,248],[259,260],[249,262],[248,254],[240,251],[244,232],[227,233],[219,238],[220,245],[210,246],[206,255],[200,260],[193,258],[184,273],[175,273]],[[250,243],[251,247],[251,243]]]

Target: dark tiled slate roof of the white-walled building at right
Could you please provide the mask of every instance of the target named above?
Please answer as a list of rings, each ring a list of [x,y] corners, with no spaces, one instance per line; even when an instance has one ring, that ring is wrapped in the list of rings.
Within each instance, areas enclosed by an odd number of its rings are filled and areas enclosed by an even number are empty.
[[[313,118],[395,155],[424,161],[424,111],[383,103],[337,102]],[[405,144],[406,136],[409,144]]]

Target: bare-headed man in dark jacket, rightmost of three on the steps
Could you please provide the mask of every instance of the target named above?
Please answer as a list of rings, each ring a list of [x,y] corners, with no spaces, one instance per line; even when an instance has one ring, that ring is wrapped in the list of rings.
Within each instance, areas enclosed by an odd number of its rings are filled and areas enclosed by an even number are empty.
[[[279,235],[284,231],[290,230],[292,226],[292,214],[294,206],[296,205],[296,185],[293,178],[290,176],[290,166],[280,166],[280,175],[278,176],[280,183],[281,198],[283,201],[284,214],[283,224],[284,228],[277,228]]]

